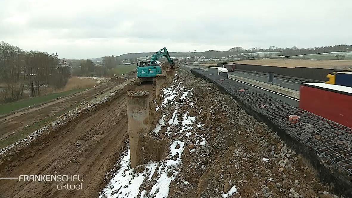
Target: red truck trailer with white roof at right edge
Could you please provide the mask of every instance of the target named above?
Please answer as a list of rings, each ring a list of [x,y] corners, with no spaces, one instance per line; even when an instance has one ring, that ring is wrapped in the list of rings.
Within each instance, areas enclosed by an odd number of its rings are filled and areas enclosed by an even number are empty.
[[[299,107],[352,128],[352,87],[301,83]]]

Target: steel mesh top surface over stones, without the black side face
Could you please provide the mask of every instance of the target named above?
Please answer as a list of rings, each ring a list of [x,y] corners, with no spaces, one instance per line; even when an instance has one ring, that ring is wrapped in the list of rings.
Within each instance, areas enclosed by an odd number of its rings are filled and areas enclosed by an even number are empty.
[[[251,89],[245,84],[194,69],[252,110],[266,116],[292,138],[312,148],[329,167],[352,177],[352,129]],[[245,90],[243,90],[245,89]],[[241,91],[240,91],[241,90]],[[323,107],[322,107],[323,108]],[[288,120],[298,115],[297,122]]]

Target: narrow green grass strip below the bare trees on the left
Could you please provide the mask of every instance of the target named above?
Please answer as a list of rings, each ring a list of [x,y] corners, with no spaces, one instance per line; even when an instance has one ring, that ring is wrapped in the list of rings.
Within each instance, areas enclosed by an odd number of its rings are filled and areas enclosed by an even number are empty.
[[[59,92],[59,93],[55,93],[55,94],[48,94],[45,96],[38,96],[38,97],[28,98],[28,99],[24,99],[24,100],[20,100],[20,101],[16,101],[16,102],[1,104],[0,105],[0,115],[6,115],[8,113],[11,113],[14,110],[18,110],[18,109],[22,109],[22,108],[25,108],[28,106],[33,106],[36,104],[40,104],[43,102],[54,100],[54,99],[59,98],[61,96],[75,94],[75,93],[78,93],[83,90],[85,90],[85,88],[73,89],[73,90],[68,90],[68,91]]]

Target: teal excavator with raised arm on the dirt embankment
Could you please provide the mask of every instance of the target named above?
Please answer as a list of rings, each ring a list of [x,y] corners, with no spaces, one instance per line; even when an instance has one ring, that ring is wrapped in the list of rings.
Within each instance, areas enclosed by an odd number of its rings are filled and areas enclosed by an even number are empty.
[[[165,56],[166,59],[168,60],[171,68],[174,67],[175,63],[172,61],[168,50],[166,47],[163,49],[155,52],[153,56],[150,58],[150,61],[144,60],[144,61],[139,61],[137,63],[137,77],[138,81],[137,83],[142,83],[142,82],[153,82],[153,84],[156,84],[156,75],[161,74],[161,67],[160,67],[160,62],[158,59],[160,57]]]

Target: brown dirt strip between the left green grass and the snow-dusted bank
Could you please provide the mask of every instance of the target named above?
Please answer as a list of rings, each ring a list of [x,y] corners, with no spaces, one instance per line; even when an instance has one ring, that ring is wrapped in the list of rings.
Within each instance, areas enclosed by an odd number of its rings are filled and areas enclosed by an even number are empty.
[[[17,133],[24,127],[40,122],[45,118],[59,116],[57,115],[59,112],[65,113],[63,110],[67,109],[68,111],[78,106],[83,101],[92,100],[96,95],[101,94],[102,91],[107,91],[118,84],[118,82],[103,83],[94,88],[78,92],[77,94],[2,117],[0,118],[0,139],[10,134]]]

